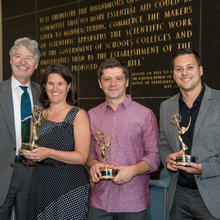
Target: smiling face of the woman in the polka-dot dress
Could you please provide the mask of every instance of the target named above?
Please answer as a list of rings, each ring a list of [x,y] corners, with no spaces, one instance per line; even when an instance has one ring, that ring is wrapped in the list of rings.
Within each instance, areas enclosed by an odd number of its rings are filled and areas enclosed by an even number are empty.
[[[66,102],[66,97],[71,84],[67,84],[65,79],[57,73],[51,73],[46,83],[46,92],[50,103]]]

